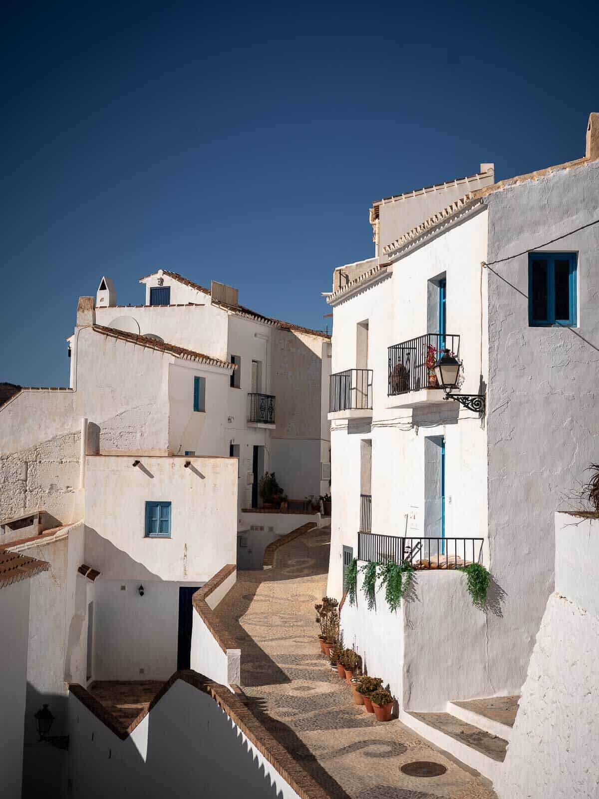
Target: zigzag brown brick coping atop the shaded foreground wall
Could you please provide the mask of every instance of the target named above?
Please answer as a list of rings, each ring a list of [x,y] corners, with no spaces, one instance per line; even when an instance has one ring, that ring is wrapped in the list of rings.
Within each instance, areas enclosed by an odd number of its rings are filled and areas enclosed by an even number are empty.
[[[218,682],[212,682],[203,674],[199,674],[191,669],[176,671],[172,677],[165,682],[161,690],[158,691],[152,702],[149,703],[148,710],[143,710],[137,718],[135,718],[128,727],[124,728],[119,724],[117,718],[113,716],[101,702],[85,690],[85,688],[78,683],[69,683],[69,691],[74,697],[84,705],[90,713],[101,721],[112,733],[124,741],[133,730],[143,721],[149,714],[154,706],[160,702],[161,698],[167,693],[169,688],[177,682],[182,680],[187,682],[188,685],[202,691],[204,694],[212,697],[218,706],[229,718],[240,728],[248,741],[260,752],[260,754],[273,766],[274,769],[284,780],[292,787],[292,789],[301,797],[301,799],[331,799],[331,794],[327,793],[310,774],[307,773],[303,766],[298,763],[284,746],[276,741],[272,733],[264,727],[251,710],[244,704],[244,702],[233,694],[226,686],[221,686]]]

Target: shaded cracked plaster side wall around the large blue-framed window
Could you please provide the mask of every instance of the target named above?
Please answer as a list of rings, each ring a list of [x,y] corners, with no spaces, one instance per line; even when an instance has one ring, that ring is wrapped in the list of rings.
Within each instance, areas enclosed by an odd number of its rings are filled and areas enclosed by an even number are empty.
[[[599,163],[488,197],[489,543],[503,618],[489,618],[494,693],[518,694],[553,592],[553,511],[597,460]],[[526,250],[578,252],[577,328],[530,328]],[[494,271],[491,272],[491,269]]]

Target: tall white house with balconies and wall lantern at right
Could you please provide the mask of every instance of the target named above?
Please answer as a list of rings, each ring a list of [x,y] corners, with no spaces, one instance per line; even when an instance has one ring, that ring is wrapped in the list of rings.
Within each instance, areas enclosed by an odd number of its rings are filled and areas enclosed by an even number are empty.
[[[341,598],[353,558],[432,564],[416,572],[419,601],[397,614],[375,615],[360,597],[342,612],[346,645],[431,738],[411,712],[520,693],[553,590],[553,511],[593,463],[598,124],[592,114],[577,161],[498,184],[482,165],[375,204],[377,255],[336,269],[327,295],[328,593]],[[446,186],[462,194],[415,220],[419,197],[442,199]],[[445,348],[462,362],[463,404],[435,385],[430,367]],[[456,557],[490,570],[486,611],[472,606]],[[486,760],[470,765],[493,777]]]

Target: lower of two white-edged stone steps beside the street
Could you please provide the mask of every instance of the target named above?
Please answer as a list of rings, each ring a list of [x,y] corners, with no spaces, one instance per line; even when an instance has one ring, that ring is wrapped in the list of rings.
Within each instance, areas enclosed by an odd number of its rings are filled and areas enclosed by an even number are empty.
[[[403,714],[410,726],[431,743],[453,754],[490,780],[495,780],[506,757],[507,741],[449,713]]]

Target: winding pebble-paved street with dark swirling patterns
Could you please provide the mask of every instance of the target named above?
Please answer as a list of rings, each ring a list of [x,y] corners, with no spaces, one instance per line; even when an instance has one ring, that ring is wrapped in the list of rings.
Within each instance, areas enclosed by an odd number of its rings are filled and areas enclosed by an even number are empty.
[[[272,570],[242,571],[216,612],[241,649],[248,709],[334,799],[493,799],[490,782],[399,720],[376,721],[320,653],[315,602],[327,586],[330,531],[282,547]],[[384,674],[380,675],[384,678]],[[412,761],[446,766],[408,777]]]

